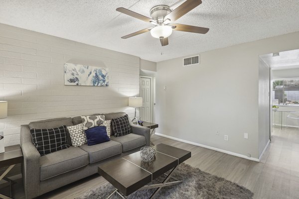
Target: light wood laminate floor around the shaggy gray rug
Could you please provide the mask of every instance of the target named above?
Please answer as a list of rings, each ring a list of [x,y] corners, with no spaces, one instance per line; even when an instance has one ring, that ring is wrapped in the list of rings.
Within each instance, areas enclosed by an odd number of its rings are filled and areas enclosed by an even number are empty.
[[[185,163],[246,187],[255,199],[299,199],[299,129],[273,129],[272,142],[259,163],[157,135],[151,140],[191,151]],[[39,198],[73,199],[106,182],[93,175]],[[15,192],[16,198],[24,198],[20,186]]]

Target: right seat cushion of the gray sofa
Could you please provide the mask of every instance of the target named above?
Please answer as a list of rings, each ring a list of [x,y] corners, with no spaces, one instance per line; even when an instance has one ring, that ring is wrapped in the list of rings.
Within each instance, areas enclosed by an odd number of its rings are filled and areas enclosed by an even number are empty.
[[[130,133],[121,137],[111,136],[110,139],[121,143],[123,146],[123,152],[135,149],[146,144],[145,136],[137,135],[134,133]]]

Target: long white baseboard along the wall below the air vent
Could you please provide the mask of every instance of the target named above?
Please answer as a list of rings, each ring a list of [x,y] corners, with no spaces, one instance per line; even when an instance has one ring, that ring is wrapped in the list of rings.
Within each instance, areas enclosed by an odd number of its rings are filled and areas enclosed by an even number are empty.
[[[237,157],[240,157],[240,158],[245,158],[245,159],[248,159],[248,160],[260,162],[260,160],[258,158],[247,157],[246,155],[242,155],[242,154],[239,154],[239,153],[234,153],[234,152],[231,152],[231,151],[226,151],[226,150],[223,150],[223,149],[218,149],[218,148],[207,146],[207,145],[204,145],[204,144],[198,144],[198,143],[195,143],[195,142],[191,142],[191,141],[188,141],[188,140],[179,139],[179,138],[172,137],[172,136],[169,136],[169,135],[164,135],[164,134],[161,134],[161,133],[155,133],[155,135],[159,135],[159,136],[162,136],[162,137],[167,137],[167,138],[172,139],[172,140],[176,140],[176,141],[180,141],[180,142],[192,144],[192,145],[195,145],[195,146],[200,146],[200,147],[207,148],[207,149],[212,149],[214,151],[219,151],[219,152],[226,153],[226,154],[233,155],[233,156],[237,156]]]

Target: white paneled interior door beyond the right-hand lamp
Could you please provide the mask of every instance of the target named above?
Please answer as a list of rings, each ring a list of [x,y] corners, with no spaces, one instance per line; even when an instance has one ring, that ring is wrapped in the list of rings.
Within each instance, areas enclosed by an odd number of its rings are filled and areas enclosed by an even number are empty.
[[[143,100],[143,105],[139,108],[139,114],[141,119],[147,122],[150,122],[150,81],[150,78],[140,78],[140,97]]]

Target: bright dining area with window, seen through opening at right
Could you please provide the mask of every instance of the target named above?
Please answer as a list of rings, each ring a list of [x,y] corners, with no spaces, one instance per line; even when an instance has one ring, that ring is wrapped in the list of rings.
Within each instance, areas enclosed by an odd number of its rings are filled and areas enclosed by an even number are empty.
[[[299,49],[261,55],[271,69],[271,129],[298,128]]]

